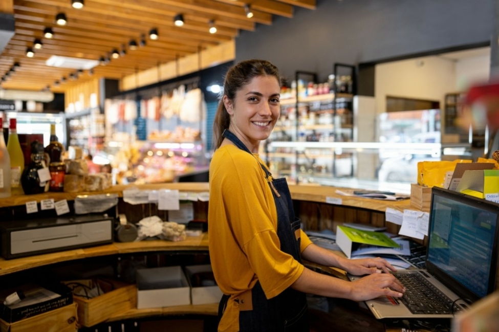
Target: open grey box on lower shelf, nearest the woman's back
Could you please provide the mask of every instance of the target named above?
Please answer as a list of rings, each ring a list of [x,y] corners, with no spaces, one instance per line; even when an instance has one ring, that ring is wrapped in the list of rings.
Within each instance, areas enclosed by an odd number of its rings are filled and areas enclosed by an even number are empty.
[[[190,285],[190,299],[192,304],[219,303],[222,291],[216,285],[210,264],[190,265],[185,267],[185,274]],[[203,285],[212,284],[212,285]]]

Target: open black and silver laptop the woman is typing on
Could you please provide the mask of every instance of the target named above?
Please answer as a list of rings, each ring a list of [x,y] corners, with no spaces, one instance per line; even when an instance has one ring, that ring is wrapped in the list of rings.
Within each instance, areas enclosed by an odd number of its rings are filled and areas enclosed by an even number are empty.
[[[495,289],[499,205],[432,188],[426,268],[394,273],[406,287],[402,298],[365,301],[378,319],[452,318]],[[405,281],[405,278],[416,281]],[[349,275],[350,280],[360,277]],[[425,284],[427,284],[425,286]],[[436,302],[409,301],[418,287],[436,291]],[[405,302],[405,303],[404,303]]]

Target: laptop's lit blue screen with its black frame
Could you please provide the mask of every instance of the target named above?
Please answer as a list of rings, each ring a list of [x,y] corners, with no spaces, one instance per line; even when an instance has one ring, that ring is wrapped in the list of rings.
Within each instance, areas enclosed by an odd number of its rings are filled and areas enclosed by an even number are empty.
[[[433,188],[427,269],[460,296],[478,300],[493,292],[499,206]]]

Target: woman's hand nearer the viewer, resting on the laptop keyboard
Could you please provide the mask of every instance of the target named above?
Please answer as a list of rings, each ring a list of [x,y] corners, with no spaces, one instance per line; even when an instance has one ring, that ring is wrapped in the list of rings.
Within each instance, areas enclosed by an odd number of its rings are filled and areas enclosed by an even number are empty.
[[[402,297],[405,287],[390,273],[373,273],[351,282],[351,300],[367,301],[379,296]]]

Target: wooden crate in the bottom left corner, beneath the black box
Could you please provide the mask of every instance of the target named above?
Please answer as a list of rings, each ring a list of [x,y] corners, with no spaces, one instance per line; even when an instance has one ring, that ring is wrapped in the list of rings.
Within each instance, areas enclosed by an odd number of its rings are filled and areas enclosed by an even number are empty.
[[[66,305],[46,313],[7,323],[0,319],[1,332],[74,332],[76,326],[76,303]]]

